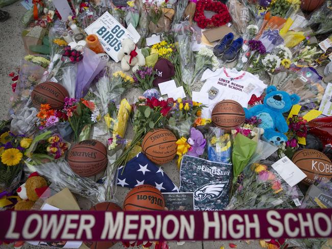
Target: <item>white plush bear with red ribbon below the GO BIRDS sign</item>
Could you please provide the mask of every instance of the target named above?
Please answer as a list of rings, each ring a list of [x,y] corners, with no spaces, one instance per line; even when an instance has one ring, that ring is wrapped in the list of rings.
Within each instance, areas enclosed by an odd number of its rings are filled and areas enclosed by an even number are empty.
[[[121,60],[121,68],[124,71],[129,71],[130,66],[133,66],[133,71],[137,71],[138,66],[145,65],[144,55],[139,51],[136,44],[129,38],[121,42],[122,48],[117,54],[117,59]]]

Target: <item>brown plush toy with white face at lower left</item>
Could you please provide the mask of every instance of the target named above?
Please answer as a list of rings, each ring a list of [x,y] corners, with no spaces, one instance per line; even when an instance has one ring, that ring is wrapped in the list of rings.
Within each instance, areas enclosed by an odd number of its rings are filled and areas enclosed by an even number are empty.
[[[29,210],[38,200],[45,190],[48,188],[48,183],[43,177],[40,177],[37,172],[33,172],[26,183],[23,183],[17,190],[21,201],[15,204],[15,210]]]

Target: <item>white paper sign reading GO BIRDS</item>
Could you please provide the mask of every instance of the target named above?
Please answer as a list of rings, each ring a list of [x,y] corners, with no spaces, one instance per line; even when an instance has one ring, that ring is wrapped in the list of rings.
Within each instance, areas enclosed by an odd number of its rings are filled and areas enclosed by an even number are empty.
[[[58,1],[58,0],[56,0]],[[61,0],[62,1],[62,0]],[[88,35],[95,34],[98,36],[105,52],[112,57],[115,62],[118,62],[117,54],[122,45],[121,41],[126,38],[137,42],[140,37],[137,34],[132,34],[125,29],[120,22],[118,22],[110,13],[105,12],[101,17],[94,21],[89,27],[85,29]]]

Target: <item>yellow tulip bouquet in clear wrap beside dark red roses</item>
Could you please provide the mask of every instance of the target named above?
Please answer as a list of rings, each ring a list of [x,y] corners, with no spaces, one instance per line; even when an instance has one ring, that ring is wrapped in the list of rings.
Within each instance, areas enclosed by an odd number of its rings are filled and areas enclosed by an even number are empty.
[[[178,137],[187,137],[190,128],[199,117],[204,106],[201,103],[181,98],[178,98],[177,101],[174,101],[173,98],[169,98],[167,102],[173,105],[170,110],[171,117],[168,120],[168,127],[174,131]]]

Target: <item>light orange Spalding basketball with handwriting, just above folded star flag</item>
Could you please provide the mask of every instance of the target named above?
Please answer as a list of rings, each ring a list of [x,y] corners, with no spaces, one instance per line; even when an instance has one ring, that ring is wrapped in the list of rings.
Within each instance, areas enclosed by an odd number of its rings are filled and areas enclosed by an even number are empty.
[[[152,162],[168,163],[173,160],[177,151],[176,136],[166,129],[155,129],[148,132],[142,142],[142,148]]]

